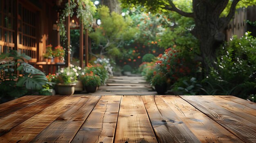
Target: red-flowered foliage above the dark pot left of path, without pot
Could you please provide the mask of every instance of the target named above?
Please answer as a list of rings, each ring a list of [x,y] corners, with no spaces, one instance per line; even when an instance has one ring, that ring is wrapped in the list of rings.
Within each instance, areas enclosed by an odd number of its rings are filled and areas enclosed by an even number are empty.
[[[90,73],[85,73],[85,75],[81,75],[80,80],[82,81],[84,86],[99,86],[101,85],[101,78],[94,74],[92,71]]]

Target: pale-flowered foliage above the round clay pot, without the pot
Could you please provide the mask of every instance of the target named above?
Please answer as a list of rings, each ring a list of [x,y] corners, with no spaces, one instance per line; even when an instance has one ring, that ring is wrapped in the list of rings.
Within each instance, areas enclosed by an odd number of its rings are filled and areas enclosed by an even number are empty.
[[[72,84],[76,82],[79,74],[75,68],[69,66],[67,68],[61,68],[56,75],[58,76],[58,83]]]

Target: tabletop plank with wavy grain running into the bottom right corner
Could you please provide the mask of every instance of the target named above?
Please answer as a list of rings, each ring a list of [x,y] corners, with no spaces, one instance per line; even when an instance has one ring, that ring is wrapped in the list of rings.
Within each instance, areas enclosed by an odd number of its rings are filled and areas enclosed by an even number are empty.
[[[200,96],[180,96],[246,143],[256,142],[256,125]]]

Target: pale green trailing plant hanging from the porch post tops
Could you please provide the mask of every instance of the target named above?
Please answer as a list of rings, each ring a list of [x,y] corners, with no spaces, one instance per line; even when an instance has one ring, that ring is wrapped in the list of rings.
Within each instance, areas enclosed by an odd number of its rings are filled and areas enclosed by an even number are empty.
[[[80,22],[83,23],[83,28],[90,31],[94,22],[93,15],[96,12],[96,7],[90,0],[70,0],[70,5],[68,2],[65,4],[65,9],[62,11],[57,25],[61,35],[61,41],[63,42],[63,47],[67,47],[68,49],[70,48],[70,45],[65,45],[65,41],[67,40],[65,18],[68,17],[68,15],[72,17],[74,11],[76,12],[76,18],[79,18]]]

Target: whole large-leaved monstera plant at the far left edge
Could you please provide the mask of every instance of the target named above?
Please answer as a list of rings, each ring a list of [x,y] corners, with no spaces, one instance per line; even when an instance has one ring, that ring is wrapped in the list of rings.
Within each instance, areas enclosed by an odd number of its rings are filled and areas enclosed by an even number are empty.
[[[38,91],[48,84],[42,71],[25,62],[29,59],[31,57],[25,53],[15,50],[0,54],[0,102],[24,95],[38,95]]]

